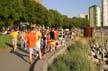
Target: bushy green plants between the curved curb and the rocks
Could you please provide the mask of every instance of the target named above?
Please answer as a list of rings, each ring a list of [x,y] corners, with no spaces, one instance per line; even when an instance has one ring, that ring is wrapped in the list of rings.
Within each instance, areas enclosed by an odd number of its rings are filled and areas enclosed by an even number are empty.
[[[49,71],[96,71],[94,64],[87,59],[82,43],[76,42],[68,49],[53,62]]]

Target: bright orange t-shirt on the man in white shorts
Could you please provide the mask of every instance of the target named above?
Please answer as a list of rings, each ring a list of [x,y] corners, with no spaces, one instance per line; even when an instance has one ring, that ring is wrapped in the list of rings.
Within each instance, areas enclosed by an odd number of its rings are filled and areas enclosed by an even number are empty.
[[[30,32],[25,36],[29,48],[34,48],[36,44],[36,36]]]

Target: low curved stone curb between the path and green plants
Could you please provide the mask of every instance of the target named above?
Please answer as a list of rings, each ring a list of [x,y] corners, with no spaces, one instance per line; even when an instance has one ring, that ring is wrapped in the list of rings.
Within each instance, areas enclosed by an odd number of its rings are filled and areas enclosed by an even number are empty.
[[[67,40],[66,40],[67,41]],[[56,51],[49,52],[43,56],[42,60],[37,61],[34,70],[35,71],[47,71],[48,66],[57,58],[58,55],[61,55],[65,52],[68,46],[70,46],[72,41],[66,42],[66,45],[57,49]]]

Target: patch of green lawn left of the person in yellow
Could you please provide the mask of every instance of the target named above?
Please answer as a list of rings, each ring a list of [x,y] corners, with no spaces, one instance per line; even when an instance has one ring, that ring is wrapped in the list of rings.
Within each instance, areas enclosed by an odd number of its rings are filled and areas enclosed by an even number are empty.
[[[9,35],[0,35],[0,48],[11,46],[11,37]]]

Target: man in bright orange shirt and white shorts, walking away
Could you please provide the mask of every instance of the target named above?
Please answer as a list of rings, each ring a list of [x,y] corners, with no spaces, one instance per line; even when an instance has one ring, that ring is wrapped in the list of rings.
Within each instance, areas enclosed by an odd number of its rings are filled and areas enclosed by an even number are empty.
[[[33,63],[33,50],[36,50],[35,45],[36,45],[36,36],[34,34],[35,29],[32,28],[31,31],[25,36],[25,39],[27,41],[27,45],[29,48],[29,60],[30,60],[30,64]]]

